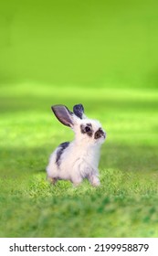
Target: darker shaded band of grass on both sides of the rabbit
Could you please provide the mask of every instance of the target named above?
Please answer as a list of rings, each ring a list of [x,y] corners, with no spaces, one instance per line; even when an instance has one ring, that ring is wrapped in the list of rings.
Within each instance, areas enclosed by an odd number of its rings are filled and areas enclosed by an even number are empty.
[[[53,146],[1,148],[0,176],[44,173]],[[158,171],[158,146],[106,144],[100,155],[100,169],[121,171]]]

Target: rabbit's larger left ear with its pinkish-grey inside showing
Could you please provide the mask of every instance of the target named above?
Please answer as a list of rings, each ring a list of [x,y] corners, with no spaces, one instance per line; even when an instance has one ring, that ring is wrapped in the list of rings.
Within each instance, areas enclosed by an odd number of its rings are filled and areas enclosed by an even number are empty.
[[[51,107],[52,111],[58,118],[58,121],[60,123],[63,123],[64,125],[67,125],[69,127],[73,127],[73,118],[72,118],[72,112],[68,111],[68,108],[64,105],[54,105]]]

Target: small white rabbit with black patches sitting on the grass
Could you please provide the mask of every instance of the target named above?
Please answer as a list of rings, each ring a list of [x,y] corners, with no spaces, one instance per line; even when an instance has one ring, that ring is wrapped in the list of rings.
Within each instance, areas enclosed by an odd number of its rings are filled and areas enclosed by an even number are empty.
[[[50,155],[47,179],[54,185],[60,179],[69,180],[77,187],[87,178],[93,187],[100,186],[100,145],[106,138],[100,122],[87,118],[82,104],[75,105],[73,112],[65,105],[54,105],[51,109],[60,123],[74,131],[75,139],[59,144]]]

